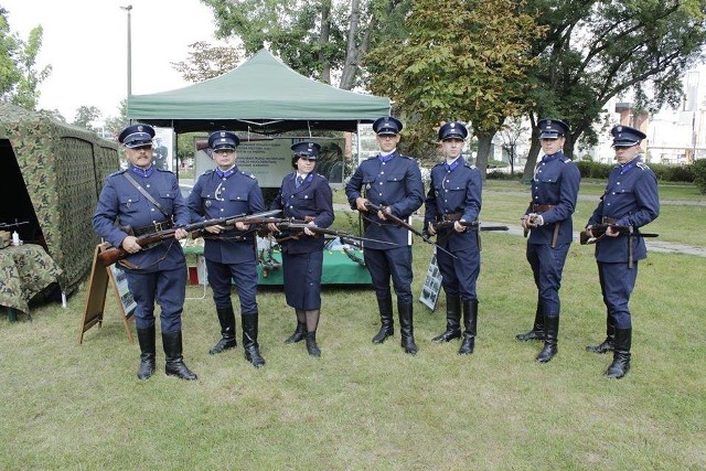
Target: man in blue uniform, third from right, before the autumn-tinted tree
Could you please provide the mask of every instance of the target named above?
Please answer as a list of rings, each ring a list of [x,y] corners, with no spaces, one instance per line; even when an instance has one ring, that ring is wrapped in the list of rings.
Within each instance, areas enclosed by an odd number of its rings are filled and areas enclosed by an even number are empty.
[[[453,254],[437,250],[441,286],[446,292],[446,331],[432,342],[449,342],[461,338],[461,306],[463,307],[463,341],[459,355],[473,353],[478,323],[475,281],[480,272],[478,229],[461,222],[478,222],[481,211],[481,172],[461,156],[468,130],[462,122],[447,122],[439,129],[445,161],[431,169],[431,184],[425,200],[425,226],[437,235],[437,244]],[[453,221],[453,226],[438,233],[435,224]]]

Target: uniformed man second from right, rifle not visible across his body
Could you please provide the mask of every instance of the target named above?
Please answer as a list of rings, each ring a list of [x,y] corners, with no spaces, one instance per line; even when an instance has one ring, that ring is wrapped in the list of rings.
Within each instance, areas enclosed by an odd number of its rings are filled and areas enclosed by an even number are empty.
[[[559,119],[542,119],[537,127],[544,157],[534,169],[532,201],[521,220],[523,228],[530,231],[526,255],[537,286],[537,308],[533,329],[516,339],[544,340],[536,360],[546,363],[557,353],[559,287],[573,239],[571,215],[581,175],[564,156],[568,125]]]

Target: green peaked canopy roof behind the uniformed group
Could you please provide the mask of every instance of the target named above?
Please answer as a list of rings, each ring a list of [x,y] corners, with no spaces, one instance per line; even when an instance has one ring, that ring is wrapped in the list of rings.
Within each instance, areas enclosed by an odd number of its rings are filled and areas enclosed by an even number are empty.
[[[373,122],[387,115],[388,98],[346,92],[309,79],[265,49],[218,77],[128,99],[128,118],[172,127],[176,132],[355,131],[359,122]]]

